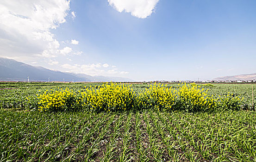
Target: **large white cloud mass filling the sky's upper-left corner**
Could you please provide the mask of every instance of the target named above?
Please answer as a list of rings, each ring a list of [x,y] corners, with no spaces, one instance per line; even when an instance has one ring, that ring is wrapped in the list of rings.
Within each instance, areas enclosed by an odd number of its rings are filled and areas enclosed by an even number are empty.
[[[51,30],[66,21],[69,4],[69,0],[0,0],[0,55],[60,54],[60,44]]]

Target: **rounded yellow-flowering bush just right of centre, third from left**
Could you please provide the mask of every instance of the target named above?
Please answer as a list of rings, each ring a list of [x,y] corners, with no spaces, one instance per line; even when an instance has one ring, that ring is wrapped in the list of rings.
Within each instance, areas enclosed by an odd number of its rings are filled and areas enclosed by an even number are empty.
[[[138,95],[138,108],[156,108],[157,110],[166,108],[171,109],[176,104],[177,90],[167,85],[154,83]]]

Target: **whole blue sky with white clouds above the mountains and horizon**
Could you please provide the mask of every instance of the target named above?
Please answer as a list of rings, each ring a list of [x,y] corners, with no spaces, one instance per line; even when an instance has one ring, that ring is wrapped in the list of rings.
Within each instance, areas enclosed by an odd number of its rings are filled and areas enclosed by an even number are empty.
[[[0,56],[134,81],[256,73],[256,0],[1,0]]]

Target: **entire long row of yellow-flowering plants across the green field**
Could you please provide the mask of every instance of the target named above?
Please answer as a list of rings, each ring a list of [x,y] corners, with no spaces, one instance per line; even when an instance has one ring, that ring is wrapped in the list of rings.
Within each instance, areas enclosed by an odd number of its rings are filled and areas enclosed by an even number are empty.
[[[101,86],[85,86],[76,92],[68,88],[46,90],[43,94],[37,94],[37,105],[39,111],[77,108],[118,111],[155,108],[196,112],[218,108],[236,110],[240,108],[241,99],[233,94],[214,97],[207,95],[207,92],[208,89],[205,90],[194,83],[182,83],[178,87],[155,83],[136,94],[131,85],[111,82]]]

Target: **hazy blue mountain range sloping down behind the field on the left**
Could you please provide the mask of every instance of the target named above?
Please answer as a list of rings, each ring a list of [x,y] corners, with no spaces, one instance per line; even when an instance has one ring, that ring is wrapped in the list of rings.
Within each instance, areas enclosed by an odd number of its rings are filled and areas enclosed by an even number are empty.
[[[63,81],[63,78],[65,81],[132,81],[122,77],[65,73],[0,57],[0,81],[24,81],[28,76],[30,81],[48,81],[48,77],[50,81]]]

